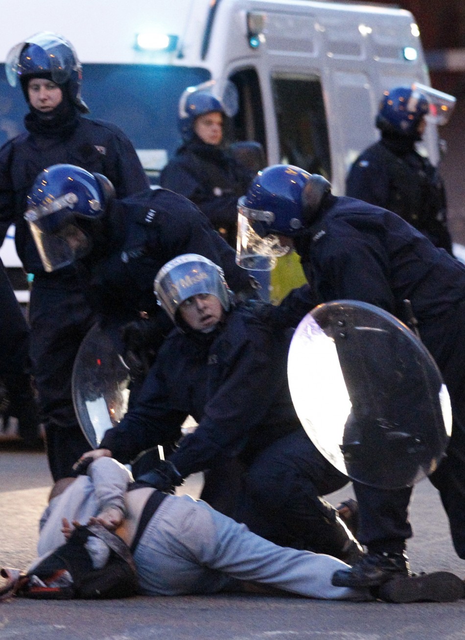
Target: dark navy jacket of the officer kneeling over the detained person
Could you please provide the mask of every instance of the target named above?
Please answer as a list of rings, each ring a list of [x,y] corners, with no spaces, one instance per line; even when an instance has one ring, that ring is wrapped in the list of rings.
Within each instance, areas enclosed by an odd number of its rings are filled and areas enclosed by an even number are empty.
[[[251,455],[301,429],[285,362],[288,337],[246,308],[234,308],[211,334],[173,331],[139,397],[100,447],[124,463],[150,447],[177,440],[192,415],[199,426],[169,457],[182,476],[209,468],[217,454]]]

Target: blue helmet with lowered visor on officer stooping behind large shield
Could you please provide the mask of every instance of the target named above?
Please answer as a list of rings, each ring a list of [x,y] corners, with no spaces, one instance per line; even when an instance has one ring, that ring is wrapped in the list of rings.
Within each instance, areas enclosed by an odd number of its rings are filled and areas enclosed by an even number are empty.
[[[236,262],[244,269],[270,271],[296,236],[317,216],[331,184],[290,164],[274,164],[256,174],[237,203]]]

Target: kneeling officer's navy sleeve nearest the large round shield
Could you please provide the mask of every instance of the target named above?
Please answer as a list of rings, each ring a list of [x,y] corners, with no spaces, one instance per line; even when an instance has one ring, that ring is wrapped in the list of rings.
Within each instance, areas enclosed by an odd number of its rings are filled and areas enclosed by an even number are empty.
[[[183,477],[209,468],[218,454],[237,456],[249,436],[269,420],[273,404],[282,400],[287,341],[263,325],[238,324],[234,330],[244,339],[223,372],[223,382],[205,405],[194,433],[169,456]]]

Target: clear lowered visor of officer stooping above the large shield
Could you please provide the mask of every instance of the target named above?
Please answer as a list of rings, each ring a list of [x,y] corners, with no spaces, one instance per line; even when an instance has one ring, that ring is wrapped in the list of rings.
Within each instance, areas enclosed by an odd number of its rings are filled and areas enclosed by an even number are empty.
[[[250,209],[243,201],[244,198],[239,198],[237,203],[236,263],[249,271],[271,271],[276,259],[286,255],[289,247],[282,246],[278,236],[267,234],[274,214]]]

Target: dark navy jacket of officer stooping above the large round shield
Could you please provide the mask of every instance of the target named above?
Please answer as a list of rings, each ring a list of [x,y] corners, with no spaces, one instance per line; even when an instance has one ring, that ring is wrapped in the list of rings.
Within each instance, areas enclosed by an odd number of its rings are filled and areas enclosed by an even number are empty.
[[[458,260],[396,214],[361,200],[327,196],[319,218],[294,244],[309,285],[276,308],[282,325],[296,326],[296,309],[302,316],[319,303],[343,299],[377,305],[407,321],[407,299],[435,355],[446,331],[443,314],[465,301],[465,267]]]

